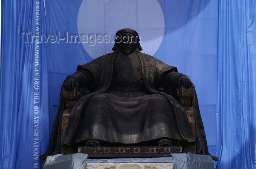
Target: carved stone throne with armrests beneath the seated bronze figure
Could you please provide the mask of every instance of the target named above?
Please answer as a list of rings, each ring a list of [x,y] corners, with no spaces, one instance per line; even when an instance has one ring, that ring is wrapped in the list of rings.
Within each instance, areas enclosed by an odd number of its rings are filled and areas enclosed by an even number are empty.
[[[195,119],[195,113],[194,113],[193,107],[194,107],[194,109],[195,109],[195,107],[198,107],[198,103],[197,103],[197,98],[196,98],[196,94],[195,94],[195,87],[192,86],[189,89],[187,89],[183,86],[180,86],[178,88],[177,87],[167,87],[167,88],[158,87],[158,91],[162,91],[164,93],[172,95],[184,107],[193,137],[196,139],[196,125],[195,125],[196,119]],[[64,137],[65,132],[67,130],[69,116],[70,116],[72,107],[75,105],[76,101],[78,101],[79,98],[81,97],[80,92],[77,89],[75,89],[74,91],[65,91],[63,89],[62,94],[63,94],[63,98],[64,98],[65,109],[63,111],[63,116],[62,116],[62,121],[61,121],[61,139]],[[173,146],[173,148],[169,147],[169,149],[166,149],[166,148],[159,149],[157,147],[154,147],[154,148],[151,147],[151,149],[150,148],[143,149],[142,151],[146,151],[146,152],[151,151],[151,155],[147,154],[148,157],[167,157],[167,156],[170,156],[170,153],[179,153],[179,152],[185,152],[185,153],[191,152],[191,153],[196,154],[196,145],[182,145],[182,143],[178,143],[178,144],[179,144],[179,146]],[[120,150],[123,150],[123,149],[118,149],[118,148],[114,149],[115,152],[118,152],[118,151],[120,152]],[[88,153],[89,157],[91,157],[91,158],[113,157],[113,154],[112,154],[112,156],[108,155],[109,151],[111,151],[111,150],[106,147],[105,148],[78,147],[78,148],[74,149],[74,147],[71,147],[71,146],[61,146],[60,151],[61,151],[61,154],[72,154],[75,152]],[[105,156],[102,155],[101,153],[98,154],[101,151],[107,153],[107,155],[104,153],[103,154]],[[130,148],[128,151],[134,152],[134,151],[136,151],[136,147]],[[153,155],[152,153],[154,153],[154,152],[155,152],[155,154]],[[164,154],[161,154],[161,152],[164,152]],[[92,153],[92,154],[90,154],[90,153]],[[141,156],[141,154],[139,156],[134,156],[134,155],[135,154],[133,154],[131,156],[126,156],[125,154],[121,154],[121,156],[120,156],[120,154],[118,153],[118,155],[115,157],[140,157]]]

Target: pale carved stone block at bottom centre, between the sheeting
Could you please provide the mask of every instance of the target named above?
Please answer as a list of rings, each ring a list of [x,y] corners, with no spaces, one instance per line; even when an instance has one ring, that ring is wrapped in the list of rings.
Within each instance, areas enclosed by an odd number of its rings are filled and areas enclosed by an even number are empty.
[[[87,163],[86,169],[173,169],[173,163]]]

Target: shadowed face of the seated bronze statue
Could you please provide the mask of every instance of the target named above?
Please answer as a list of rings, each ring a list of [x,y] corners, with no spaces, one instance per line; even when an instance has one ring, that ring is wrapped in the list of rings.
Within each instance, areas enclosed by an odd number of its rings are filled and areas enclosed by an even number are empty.
[[[135,37],[132,34],[126,33],[121,35],[121,41],[119,42],[120,51],[125,54],[131,54],[136,48]]]

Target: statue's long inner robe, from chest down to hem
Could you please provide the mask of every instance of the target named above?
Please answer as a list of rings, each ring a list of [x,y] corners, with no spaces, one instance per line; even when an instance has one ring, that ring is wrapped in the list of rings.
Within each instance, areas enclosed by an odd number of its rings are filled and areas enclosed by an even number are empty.
[[[156,61],[155,59],[154,62]],[[176,81],[178,76],[182,75],[174,72],[174,67],[167,66],[159,60],[157,62],[173,72],[172,76]],[[157,64],[155,66],[158,67]],[[87,65],[83,67],[86,68]],[[90,72],[94,71],[90,70]],[[157,73],[161,79],[162,72]],[[87,74],[86,79],[91,79],[88,77],[90,76],[88,71],[83,74]],[[168,101],[172,99],[170,96],[166,98],[165,95],[148,92],[144,86],[142,74],[137,52],[128,56],[118,52],[114,59],[109,89],[104,93],[91,96],[84,103],[79,118],[71,116],[71,119],[75,118],[74,121],[79,121],[76,134],[73,136],[74,142],[81,143],[90,139],[98,139],[112,143],[136,144],[164,137],[194,142],[185,112],[177,107],[178,115],[174,113],[173,107],[180,106],[180,104],[170,103]],[[74,74],[72,76],[79,79],[80,83],[86,83],[84,75]],[[182,119],[179,125],[177,125],[176,116]],[[74,131],[68,132],[74,133]]]

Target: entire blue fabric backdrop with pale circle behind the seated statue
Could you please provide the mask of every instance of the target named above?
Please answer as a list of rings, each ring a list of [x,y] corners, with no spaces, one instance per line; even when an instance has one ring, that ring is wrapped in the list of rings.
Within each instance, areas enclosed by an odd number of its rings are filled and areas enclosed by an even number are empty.
[[[254,167],[253,0],[1,3],[0,168],[41,167],[37,157],[47,149],[63,80],[113,46],[66,42],[65,35],[109,34],[112,39],[112,32],[124,27],[146,32],[141,33],[142,52],[178,67],[195,84],[209,151],[220,158],[215,166]],[[43,35],[41,43],[31,42],[38,40],[36,33]]]

